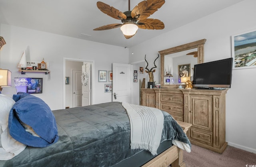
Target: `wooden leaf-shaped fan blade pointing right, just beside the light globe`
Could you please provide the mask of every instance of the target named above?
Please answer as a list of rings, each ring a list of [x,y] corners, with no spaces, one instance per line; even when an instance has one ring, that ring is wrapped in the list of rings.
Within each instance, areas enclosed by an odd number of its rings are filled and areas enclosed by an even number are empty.
[[[140,20],[137,26],[141,29],[164,29],[164,23],[158,19]]]

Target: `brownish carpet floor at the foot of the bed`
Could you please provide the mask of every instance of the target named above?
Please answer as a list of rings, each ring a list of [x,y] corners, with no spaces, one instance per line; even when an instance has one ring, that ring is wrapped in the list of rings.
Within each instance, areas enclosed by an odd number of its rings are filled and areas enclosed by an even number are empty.
[[[222,153],[192,145],[191,152],[184,151],[186,167],[256,167],[256,154],[227,146]]]

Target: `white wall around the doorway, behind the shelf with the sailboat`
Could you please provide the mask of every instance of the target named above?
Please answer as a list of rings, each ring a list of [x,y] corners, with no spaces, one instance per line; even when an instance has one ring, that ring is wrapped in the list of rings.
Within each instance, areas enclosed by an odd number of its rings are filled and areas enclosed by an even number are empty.
[[[50,63],[50,75],[26,73],[28,77],[43,78],[43,93],[34,94],[42,98],[52,110],[63,108],[63,58],[94,60],[94,85],[92,85],[93,104],[110,102],[111,94],[104,93],[104,84],[98,83],[98,70],[112,70],[112,63],[128,63],[128,50],[117,47],[45,33],[32,29],[0,25],[0,36],[6,45],[1,49],[0,68],[12,71],[12,87],[5,87],[4,94],[16,94],[14,77],[18,77],[17,64],[26,49],[27,61],[42,60]],[[114,60],[114,62],[113,62]]]

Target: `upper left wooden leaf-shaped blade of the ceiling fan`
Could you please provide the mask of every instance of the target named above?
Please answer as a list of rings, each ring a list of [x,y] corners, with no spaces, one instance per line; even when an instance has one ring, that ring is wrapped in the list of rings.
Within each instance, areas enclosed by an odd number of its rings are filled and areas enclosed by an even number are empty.
[[[117,10],[116,8],[109,6],[103,2],[97,2],[97,7],[101,12],[107,14],[108,16],[118,19],[118,20],[125,20],[127,17],[125,14]]]

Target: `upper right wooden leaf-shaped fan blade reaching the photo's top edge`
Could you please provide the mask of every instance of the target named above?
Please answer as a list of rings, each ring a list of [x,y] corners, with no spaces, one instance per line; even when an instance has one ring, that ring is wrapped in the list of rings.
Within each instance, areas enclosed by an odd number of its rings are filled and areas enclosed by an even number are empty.
[[[161,8],[164,3],[164,0],[144,0],[133,8],[131,16],[136,20],[144,20]]]

